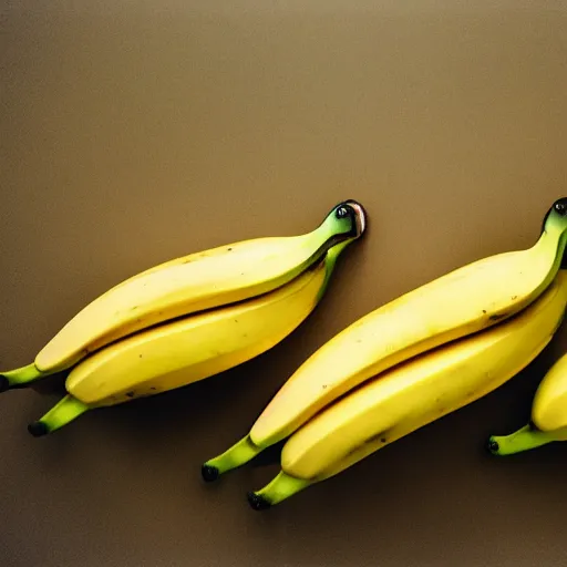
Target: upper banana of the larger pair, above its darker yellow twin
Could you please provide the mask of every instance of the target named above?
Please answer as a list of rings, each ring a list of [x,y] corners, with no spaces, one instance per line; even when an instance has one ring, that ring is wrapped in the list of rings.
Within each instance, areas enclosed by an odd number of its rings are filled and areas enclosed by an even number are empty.
[[[550,285],[567,241],[567,198],[554,203],[534,246],[458,268],[362,317],[316,351],[249,433],[202,466],[206,481],[240,466],[365,380],[519,313]]]

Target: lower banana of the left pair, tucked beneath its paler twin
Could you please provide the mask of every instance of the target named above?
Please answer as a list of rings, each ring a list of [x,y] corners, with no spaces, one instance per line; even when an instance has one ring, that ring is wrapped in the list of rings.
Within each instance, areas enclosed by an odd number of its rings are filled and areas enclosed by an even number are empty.
[[[69,373],[65,395],[28,431],[51,433],[94,408],[166,392],[246,362],[284,340],[313,311],[340,252],[259,297],[146,329],[99,350]]]

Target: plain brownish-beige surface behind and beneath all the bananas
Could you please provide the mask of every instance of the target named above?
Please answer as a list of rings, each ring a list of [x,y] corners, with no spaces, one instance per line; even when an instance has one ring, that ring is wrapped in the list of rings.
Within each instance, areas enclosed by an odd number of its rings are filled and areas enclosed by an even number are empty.
[[[567,445],[482,449],[525,421],[565,330],[498,392],[268,513],[245,493],[276,467],[204,486],[199,466],[334,332],[535,241],[567,194],[567,4],[2,4],[1,368],[158,261],[310,229],[347,197],[371,217],[321,308],[238,370],[39,440],[56,396],[3,394],[3,567],[566,564]]]

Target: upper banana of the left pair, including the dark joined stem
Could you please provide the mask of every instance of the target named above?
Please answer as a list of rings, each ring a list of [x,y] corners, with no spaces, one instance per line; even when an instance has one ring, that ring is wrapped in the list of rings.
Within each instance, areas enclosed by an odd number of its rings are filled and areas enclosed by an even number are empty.
[[[315,230],[264,237],[190,254],[114,286],[74,316],[34,362],[0,373],[0,391],[68,370],[87,354],[164,321],[236,303],[288,284],[336,244],[360,237],[365,213],[337,205]]]

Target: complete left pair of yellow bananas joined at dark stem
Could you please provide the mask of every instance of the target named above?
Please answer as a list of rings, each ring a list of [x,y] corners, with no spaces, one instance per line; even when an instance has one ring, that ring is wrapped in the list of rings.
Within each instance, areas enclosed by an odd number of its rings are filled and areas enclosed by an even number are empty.
[[[229,244],[135,275],[73,317],[33,363],[0,373],[0,390],[69,372],[68,395],[28,426],[40,436],[90,409],[234,368],[306,320],[340,252],[365,226],[362,205],[347,200],[310,233]]]

